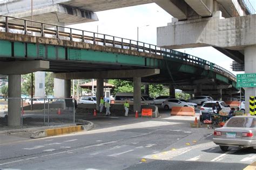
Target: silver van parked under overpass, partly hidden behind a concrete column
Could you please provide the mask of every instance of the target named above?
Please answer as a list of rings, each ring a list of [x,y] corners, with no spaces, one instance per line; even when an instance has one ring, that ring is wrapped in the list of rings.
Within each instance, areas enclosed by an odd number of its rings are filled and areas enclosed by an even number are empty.
[[[129,100],[130,104],[133,104],[133,93],[117,93],[114,96],[114,103],[124,104],[126,100]],[[142,104],[154,105],[154,99],[149,95],[142,94]]]

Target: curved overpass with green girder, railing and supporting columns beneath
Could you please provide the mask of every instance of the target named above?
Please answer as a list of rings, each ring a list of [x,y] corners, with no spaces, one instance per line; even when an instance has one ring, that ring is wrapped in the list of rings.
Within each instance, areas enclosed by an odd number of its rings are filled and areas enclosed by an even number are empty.
[[[171,91],[186,87],[190,93],[218,98],[239,92],[232,73],[196,56],[68,27],[66,32],[59,31],[62,26],[58,25],[51,25],[56,30],[40,22],[32,21],[41,27],[29,26],[31,21],[25,19],[12,18],[24,23],[12,24],[11,17],[4,18],[0,23],[0,74],[9,75],[9,97],[21,96],[21,74],[38,70],[55,72],[54,77],[65,80],[65,97],[70,96],[71,79],[98,79],[97,101],[103,96],[103,79],[133,80],[134,110],[140,110],[141,82],[169,84]],[[9,102],[18,103],[15,99]],[[9,113],[16,119],[11,125],[19,123],[19,106],[16,109]]]

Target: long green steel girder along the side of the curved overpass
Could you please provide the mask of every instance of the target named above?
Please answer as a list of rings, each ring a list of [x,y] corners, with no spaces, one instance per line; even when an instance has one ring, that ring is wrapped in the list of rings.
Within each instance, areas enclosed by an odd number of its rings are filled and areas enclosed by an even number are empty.
[[[92,49],[79,49],[57,45],[36,44],[28,42],[16,42],[0,40],[1,58],[14,60],[56,60],[70,62],[105,63],[110,65],[124,65],[131,67],[159,68],[166,72],[169,67],[172,72],[196,74],[199,77],[208,77],[232,84],[236,88],[236,82],[225,76],[215,73],[212,68],[205,70],[203,65],[188,65],[186,61],[175,57],[164,56],[163,59],[147,58],[145,56],[94,51]]]

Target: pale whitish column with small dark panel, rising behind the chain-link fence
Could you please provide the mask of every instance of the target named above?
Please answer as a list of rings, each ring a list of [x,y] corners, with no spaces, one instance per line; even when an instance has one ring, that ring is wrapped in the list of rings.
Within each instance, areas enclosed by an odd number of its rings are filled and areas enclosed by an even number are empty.
[[[35,97],[45,97],[45,72],[35,73]]]

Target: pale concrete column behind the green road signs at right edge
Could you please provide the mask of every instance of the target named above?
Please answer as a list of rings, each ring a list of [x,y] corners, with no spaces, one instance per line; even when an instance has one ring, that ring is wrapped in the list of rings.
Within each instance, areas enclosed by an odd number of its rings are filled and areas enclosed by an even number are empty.
[[[256,73],[256,46],[245,47],[245,73]],[[249,98],[256,95],[255,87],[245,88],[245,112],[249,113]]]

